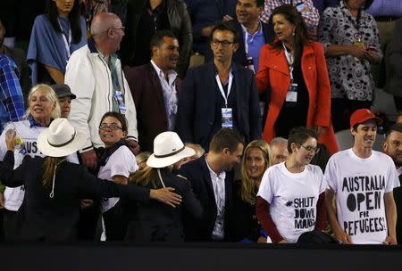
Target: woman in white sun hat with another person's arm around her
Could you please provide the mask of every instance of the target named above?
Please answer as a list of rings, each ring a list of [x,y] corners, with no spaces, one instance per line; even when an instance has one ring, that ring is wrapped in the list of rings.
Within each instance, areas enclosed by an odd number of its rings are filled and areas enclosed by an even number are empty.
[[[172,168],[174,163],[194,154],[174,132],[155,137],[154,153],[147,160],[147,168],[131,173],[130,182],[153,189],[172,186],[182,201],[177,208],[156,201],[138,202],[137,209],[130,209],[133,204],[128,205],[130,223],[126,241],[184,242],[182,215],[200,219],[203,209],[188,180],[172,174]]]

